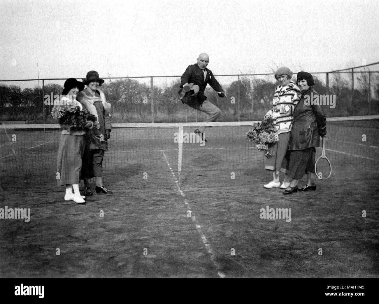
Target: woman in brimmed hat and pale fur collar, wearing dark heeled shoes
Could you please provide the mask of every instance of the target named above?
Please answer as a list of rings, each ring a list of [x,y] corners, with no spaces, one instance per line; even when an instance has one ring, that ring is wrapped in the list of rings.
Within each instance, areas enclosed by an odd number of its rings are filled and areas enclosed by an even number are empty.
[[[99,140],[94,141],[89,136],[86,137],[86,148],[83,154],[83,167],[81,170],[81,179],[85,185],[85,195],[92,196],[88,179],[96,177],[96,193],[111,194],[103,185],[103,157],[104,152],[108,149],[107,140],[111,133],[111,104],[106,102],[105,95],[100,89],[104,80],[99,77],[96,71],[89,71],[83,83],[87,88],[81,91],[77,99],[93,115],[96,121],[92,132]]]

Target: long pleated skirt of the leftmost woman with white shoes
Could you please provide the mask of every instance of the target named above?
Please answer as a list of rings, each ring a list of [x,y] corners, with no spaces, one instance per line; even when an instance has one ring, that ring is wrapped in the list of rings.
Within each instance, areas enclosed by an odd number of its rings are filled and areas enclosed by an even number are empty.
[[[81,157],[85,149],[84,135],[62,134],[58,148],[58,186],[80,182]]]

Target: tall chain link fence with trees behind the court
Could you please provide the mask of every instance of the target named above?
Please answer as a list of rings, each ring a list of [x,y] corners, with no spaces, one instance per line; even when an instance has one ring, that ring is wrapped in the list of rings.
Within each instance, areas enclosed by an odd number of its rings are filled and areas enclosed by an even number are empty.
[[[316,72],[315,90],[322,94],[327,117],[379,114],[379,63]],[[207,86],[205,95],[217,105],[219,121],[261,120],[271,108],[277,85],[273,74],[215,75],[226,91],[220,98]],[[80,78],[77,78],[80,80]],[[183,105],[178,97],[180,76],[103,78],[115,123],[197,122],[205,114]],[[296,81],[296,74],[293,75]],[[50,124],[53,100],[65,79],[0,80],[2,123]],[[320,98],[321,99],[321,98]]]

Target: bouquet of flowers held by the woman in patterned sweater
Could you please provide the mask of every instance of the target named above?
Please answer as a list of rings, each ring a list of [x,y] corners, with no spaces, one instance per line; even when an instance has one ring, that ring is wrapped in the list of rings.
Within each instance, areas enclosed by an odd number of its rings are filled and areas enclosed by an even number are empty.
[[[254,143],[257,144],[258,151],[265,151],[265,157],[270,158],[275,156],[275,152],[268,149],[269,144],[273,144],[279,140],[274,122],[271,118],[266,118],[254,124],[253,128],[246,133],[246,138],[249,138],[249,141],[254,141]]]

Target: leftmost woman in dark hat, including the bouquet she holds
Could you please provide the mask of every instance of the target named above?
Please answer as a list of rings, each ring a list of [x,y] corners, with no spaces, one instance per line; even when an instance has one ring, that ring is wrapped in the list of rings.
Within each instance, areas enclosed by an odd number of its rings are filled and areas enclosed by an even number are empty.
[[[60,105],[54,105],[52,111],[52,116],[63,128],[58,148],[58,186],[66,186],[65,201],[74,201],[78,204],[85,203],[85,196],[81,196],[79,192],[81,157],[85,148],[85,128],[89,129],[93,126],[91,121],[84,118],[83,106],[75,98],[83,89],[82,82],[75,78],[67,79],[64,82]]]

